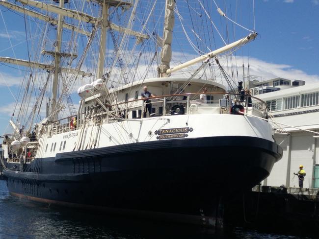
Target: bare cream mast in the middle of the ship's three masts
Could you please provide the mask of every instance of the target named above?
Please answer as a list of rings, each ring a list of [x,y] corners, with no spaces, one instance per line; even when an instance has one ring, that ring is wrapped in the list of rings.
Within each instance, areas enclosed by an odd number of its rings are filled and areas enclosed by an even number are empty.
[[[101,37],[100,37],[100,52],[99,52],[99,63],[98,63],[98,78],[102,78],[104,75],[104,63],[105,63],[105,49],[106,49],[106,30],[108,27],[108,5],[103,2],[102,6],[102,26],[101,26]]]

